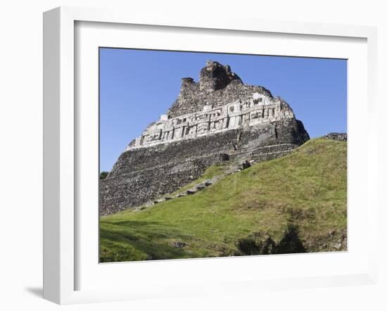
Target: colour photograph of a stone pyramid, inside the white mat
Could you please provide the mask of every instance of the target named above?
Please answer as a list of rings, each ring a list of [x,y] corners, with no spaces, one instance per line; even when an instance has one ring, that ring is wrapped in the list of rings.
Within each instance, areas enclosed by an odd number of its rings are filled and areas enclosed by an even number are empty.
[[[99,47],[99,262],[347,251],[347,69]]]

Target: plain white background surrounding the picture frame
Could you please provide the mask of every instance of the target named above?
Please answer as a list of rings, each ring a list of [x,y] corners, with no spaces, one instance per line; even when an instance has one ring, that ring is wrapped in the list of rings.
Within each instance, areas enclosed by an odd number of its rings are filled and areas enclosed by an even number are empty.
[[[126,6],[125,6],[126,3]],[[58,310],[42,300],[42,12],[55,6],[118,6],[176,14],[232,15],[270,20],[376,25],[379,27],[379,94],[387,86],[387,10],[383,1],[8,1],[0,6],[1,223],[0,308]],[[379,96],[383,101],[383,96]],[[379,135],[387,132],[379,113]],[[364,127],[366,125],[364,124]],[[387,139],[385,139],[387,141]],[[380,141],[382,145],[383,141]],[[379,186],[386,189],[385,148]],[[383,179],[383,180],[382,180]],[[383,186],[384,184],[384,186]],[[380,194],[382,192],[380,191]],[[381,205],[386,206],[384,198]],[[71,305],[68,310],[386,310],[386,210],[381,210],[379,286],[277,291],[228,297]],[[384,238],[384,239],[383,239]],[[384,265],[383,265],[384,263]]]

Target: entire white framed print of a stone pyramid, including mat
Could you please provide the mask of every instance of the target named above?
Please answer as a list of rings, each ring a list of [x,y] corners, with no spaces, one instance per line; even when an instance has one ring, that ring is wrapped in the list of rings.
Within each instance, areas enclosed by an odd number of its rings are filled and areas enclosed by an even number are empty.
[[[373,284],[375,33],[44,13],[44,297]]]

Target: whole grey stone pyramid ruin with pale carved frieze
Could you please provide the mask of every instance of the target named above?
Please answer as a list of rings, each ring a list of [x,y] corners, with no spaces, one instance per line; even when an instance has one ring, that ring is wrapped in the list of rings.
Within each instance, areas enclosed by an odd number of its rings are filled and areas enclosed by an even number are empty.
[[[243,84],[228,65],[208,61],[198,82],[182,79],[167,113],[127,146],[100,181],[100,214],[137,208],[177,191],[210,165],[279,158],[308,139],[284,99]]]

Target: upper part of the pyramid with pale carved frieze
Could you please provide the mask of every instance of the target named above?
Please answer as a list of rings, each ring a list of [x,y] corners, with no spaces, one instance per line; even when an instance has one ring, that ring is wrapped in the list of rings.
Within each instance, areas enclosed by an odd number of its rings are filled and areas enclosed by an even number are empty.
[[[169,112],[148,125],[127,151],[294,119],[286,101],[262,87],[243,84],[229,66],[209,61],[198,83],[183,79]]]

